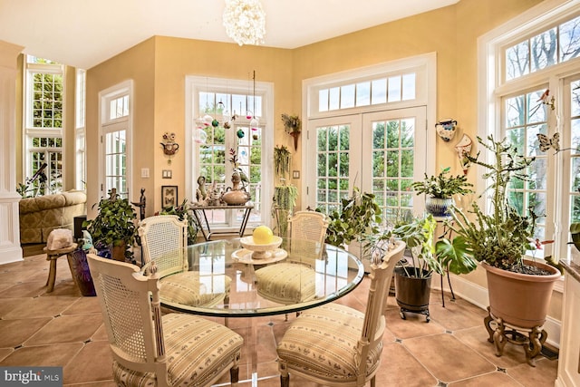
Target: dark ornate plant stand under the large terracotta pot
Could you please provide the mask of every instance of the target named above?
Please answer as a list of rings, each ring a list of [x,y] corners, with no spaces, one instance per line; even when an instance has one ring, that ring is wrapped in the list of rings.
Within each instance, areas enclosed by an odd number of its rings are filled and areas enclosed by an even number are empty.
[[[491,327],[491,322],[496,324],[496,329]],[[547,333],[541,326],[536,325],[532,328],[522,328],[511,324],[504,323],[502,318],[497,318],[488,306],[488,315],[483,320],[488,330],[489,343],[496,346],[496,355],[501,356],[504,352],[506,343],[522,345],[526,351],[526,360],[529,365],[536,367],[536,356],[542,350],[542,345],[546,342]],[[524,334],[524,333],[526,334]]]

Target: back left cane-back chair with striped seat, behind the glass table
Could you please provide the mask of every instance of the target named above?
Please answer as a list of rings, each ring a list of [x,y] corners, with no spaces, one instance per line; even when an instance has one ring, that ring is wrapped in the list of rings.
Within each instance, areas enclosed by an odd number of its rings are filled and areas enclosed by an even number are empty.
[[[231,278],[224,275],[200,277],[188,271],[188,221],[176,215],[157,215],[141,220],[139,226],[144,267],[155,262],[160,276],[161,298],[192,306],[226,302]]]

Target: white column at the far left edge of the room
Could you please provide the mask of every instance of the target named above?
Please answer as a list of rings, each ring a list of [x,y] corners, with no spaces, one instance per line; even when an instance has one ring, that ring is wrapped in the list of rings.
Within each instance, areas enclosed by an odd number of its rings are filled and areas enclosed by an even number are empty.
[[[0,265],[22,261],[16,192],[16,60],[24,47],[0,41]]]

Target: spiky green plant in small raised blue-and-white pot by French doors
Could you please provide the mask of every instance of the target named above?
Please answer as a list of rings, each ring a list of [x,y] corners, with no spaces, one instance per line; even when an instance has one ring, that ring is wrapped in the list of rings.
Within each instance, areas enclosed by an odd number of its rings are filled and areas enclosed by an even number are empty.
[[[425,194],[425,209],[427,212],[438,218],[448,218],[449,208],[453,204],[453,195],[465,195],[473,192],[470,187],[473,184],[468,182],[465,175],[449,175],[450,168],[440,171],[437,176],[427,176],[422,181],[415,181],[411,187],[417,194]]]

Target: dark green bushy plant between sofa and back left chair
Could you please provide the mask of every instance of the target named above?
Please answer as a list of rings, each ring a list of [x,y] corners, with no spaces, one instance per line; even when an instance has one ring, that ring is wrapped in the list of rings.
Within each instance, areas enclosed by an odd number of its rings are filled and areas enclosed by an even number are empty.
[[[82,227],[86,227],[91,234],[92,243],[97,249],[109,248],[113,259],[131,262],[131,247],[137,236],[135,209],[129,199],[117,196],[116,189],[111,189],[109,198],[102,198],[98,205],[97,217],[85,220]]]

